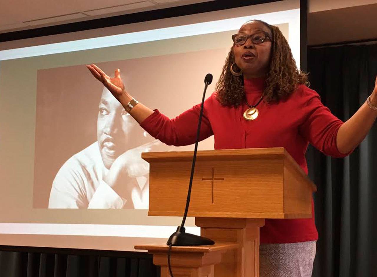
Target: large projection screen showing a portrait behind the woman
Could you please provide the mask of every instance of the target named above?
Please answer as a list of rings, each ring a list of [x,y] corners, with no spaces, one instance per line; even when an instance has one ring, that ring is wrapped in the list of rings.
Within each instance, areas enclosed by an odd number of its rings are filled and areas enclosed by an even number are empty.
[[[181,218],[147,216],[149,167],[140,155],[194,146],[155,141],[85,64],[111,76],[119,68],[132,96],[174,118],[200,103],[207,73],[207,97],[214,92],[231,35],[251,19],[278,26],[299,66],[296,0],[0,43],[0,245],[133,251],[166,242]],[[112,128],[123,132],[109,139]],[[199,143],[211,149],[213,137]],[[112,164],[103,153],[126,152],[132,201],[108,207],[116,195],[102,183]],[[186,225],[200,233],[193,218]]]

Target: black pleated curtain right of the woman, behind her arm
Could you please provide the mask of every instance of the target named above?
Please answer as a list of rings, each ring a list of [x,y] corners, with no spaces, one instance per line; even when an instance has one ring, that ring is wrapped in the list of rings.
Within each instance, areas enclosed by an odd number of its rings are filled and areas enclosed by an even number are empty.
[[[377,75],[377,44],[308,48],[311,88],[343,121],[366,101]],[[344,159],[310,147],[309,176],[319,232],[313,276],[377,276],[377,124]]]

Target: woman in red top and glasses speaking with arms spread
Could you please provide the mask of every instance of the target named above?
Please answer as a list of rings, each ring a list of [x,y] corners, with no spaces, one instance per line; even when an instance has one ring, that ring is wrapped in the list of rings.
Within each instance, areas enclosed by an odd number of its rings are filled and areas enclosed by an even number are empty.
[[[284,147],[308,173],[309,143],[325,155],[345,157],[365,138],[377,117],[377,79],[366,102],[342,122],[306,86],[307,75],[297,69],[279,28],[252,20],[232,39],[216,91],[204,102],[200,140],[214,135],[215,149]],[[119,69],[110,78],[94,64],[87,67],[150,135],[168,145],[195,143],[200,104],[169,119],[138,103],[124,89]],[[116,191],[116,178],[105,181]],[[313,200],[312,214],[310,219],[265,220],[261,277],[311,276],[318,239]]]

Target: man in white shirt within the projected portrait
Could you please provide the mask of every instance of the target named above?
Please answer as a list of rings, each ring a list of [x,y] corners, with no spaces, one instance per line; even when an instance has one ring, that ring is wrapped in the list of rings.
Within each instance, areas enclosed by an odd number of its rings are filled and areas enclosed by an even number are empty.
[[[93,126],[95,127],[95,126]],[[98,106],[97,141],[70,157],[52,182],[49,208],[147,208],[149,164],[142,152],[162,144],[140,128],[109,90]],[[136,136],[135,136],[136,135]],[[145,139],[144,139],[145,138]],[[104,178],[115,179],[118,189]]]

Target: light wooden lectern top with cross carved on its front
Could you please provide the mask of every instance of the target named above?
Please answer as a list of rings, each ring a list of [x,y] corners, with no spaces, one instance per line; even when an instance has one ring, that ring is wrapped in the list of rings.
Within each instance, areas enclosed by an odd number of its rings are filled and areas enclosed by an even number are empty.
[[[183,215],[192,154],[143,153],[143,158],[150,162],[150,216]],[[198,152],[189,216],[311,217],[311,210],[292,208],[295,201],[308,200],[316,189],[297,167],[284,148]],[[208,180],[211,178],[222,180]],[[300,194],[288,194],[294,190]]]

